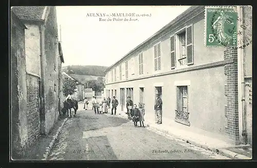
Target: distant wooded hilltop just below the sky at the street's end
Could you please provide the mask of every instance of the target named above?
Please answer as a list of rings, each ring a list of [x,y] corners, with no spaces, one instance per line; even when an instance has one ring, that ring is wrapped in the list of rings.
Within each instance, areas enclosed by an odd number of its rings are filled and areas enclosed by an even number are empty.
[[[84,74],[91,76],[104,77],[104,70],[107,69],[107,66],[97,66],[97,65],[71,65],[63,67],[63,70],[67,74]]]

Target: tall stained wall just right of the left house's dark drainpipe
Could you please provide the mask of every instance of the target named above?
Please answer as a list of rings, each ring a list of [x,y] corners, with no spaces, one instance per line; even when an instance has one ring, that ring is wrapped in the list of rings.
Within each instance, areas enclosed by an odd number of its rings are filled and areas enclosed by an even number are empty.
[[[56,7],[48,6],[45,23],[45,133],[48,134],[59,115],[58,25]]]

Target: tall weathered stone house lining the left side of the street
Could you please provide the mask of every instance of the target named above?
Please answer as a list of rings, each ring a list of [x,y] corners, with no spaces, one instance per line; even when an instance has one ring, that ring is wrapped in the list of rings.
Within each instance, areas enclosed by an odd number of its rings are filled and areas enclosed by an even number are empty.
[[[12,119],[13,123],[20,122],[17,124],[23,125],[22,132],[15,138],[18,142],[13,146],[14,148],[21,146],[20,150],[14,150],[21,156],[25,147],[33,144],[40,135],[47,135],[59,119],[62,83],[60,74],[64,60],[58,42],[56,7],[20,6],[12,7],[11,12],[26,26],[23,53],[25,57],[19,57],[19,60],[24,62],[25,69],[19,71],[24,73],[23,79],[26,80],[26,86],[23,86],[26,91],[22,91],[26,96],[19,96],[19,101],[26,98],[27,105],[24,111],[16,112],[23,113],[23,120]],[[14,16],[11,20],[13,18]],[[11,43],[22,43],[17,38],[17,35],[16,37],[12,35]],[[17,83],[13,87],[21,88],[21,84]],[[16,104],[15,99],[11,101]],[[14,127],[12,135],[17,133]]]

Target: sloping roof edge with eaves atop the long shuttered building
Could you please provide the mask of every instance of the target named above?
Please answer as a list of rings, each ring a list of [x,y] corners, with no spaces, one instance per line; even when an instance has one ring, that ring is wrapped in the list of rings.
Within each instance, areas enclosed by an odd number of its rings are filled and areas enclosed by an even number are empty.
[[[190,18],[194,17],[194,15],[199,14],[200,12],[203,12],[205,10],[205,6],[191,6],[190,8],[188,8],[186,11],[184,11],[183,13],[181,13],[180,15],[178,15],[174,20],[172,20],[170,23],[168,23],[166,26],[162,27],[159,31],[157,31],[155,34],[153,34],[150,38],[146,39],[144,42],[142,42],[141,44],[139,44],[137,47],[135,47],[133,50],[131,50],[130,52],[128,52],[126,55],[124,55],[124,57],[122,57],[120,60],[118,60],[116,63],[114,63],[113,65],[109,66],[107,69],[105,69],[104,72],[107,72],[108,70],[110,70],[111,68],[113,68],[115,65],[119,64],[122,60],[125,60],[126,58],[130,57],[130,55],[137,51],[140,47],[142,47],[145,43],[150,42],[151,40],[153,40],[156,36],[158,36],[159,34],[161,34],[163,31],[166,31],[167,29],[170,28],[175,28],[176,26],[178,26],[177,24],[181,22],[185,22],[183,20],[189,20]]]

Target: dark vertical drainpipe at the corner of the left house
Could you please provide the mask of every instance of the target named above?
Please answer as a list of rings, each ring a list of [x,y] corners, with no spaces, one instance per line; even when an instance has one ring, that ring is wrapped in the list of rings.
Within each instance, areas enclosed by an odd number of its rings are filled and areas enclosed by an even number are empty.
[[[40,25],[40,92],[41,92],[41,105],[40,105],[40,133],[45,136],[45,26]]]

